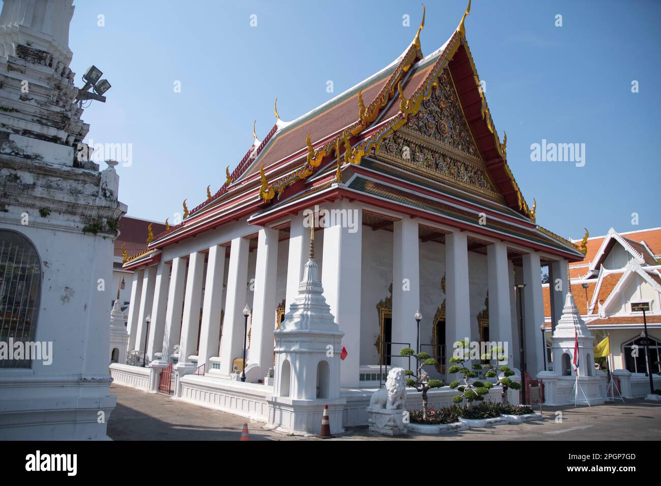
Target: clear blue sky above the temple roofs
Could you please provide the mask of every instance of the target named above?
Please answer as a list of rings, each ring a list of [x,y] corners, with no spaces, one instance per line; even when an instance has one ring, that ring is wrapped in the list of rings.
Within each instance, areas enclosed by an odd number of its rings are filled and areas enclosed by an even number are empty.
[[[466,3],[426,2],[424,54],[447,40]],[[253,141],[253,120],[260,139],[272,127],[274,98],[283,120],[311,110],[397,58],[422,15],[420,1],[75,5],[77,82],[94,63],[112,83],[108,102],[85,111],[87,140],[133,144],[132,167],[118,167],[120,200],[131,216],[159,221],[223,184]],[[537,222],[565,237],[661,226],[660,14],[658,1],[473,1],[467,38],[496,129],[508,134],[508,163],[529,204],[537,199]],[[585,166],[532,162],[542,139],[585,143]]]

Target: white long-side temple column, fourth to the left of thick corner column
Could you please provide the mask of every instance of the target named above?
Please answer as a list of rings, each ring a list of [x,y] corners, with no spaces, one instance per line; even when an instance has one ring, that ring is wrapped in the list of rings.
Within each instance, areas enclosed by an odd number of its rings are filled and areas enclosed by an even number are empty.
[[[209,249],[207,276],[204,284],[204,307],[202,309],[202,329],[200,329],[200,350],[198,365],[205,364],[209,372],[209,358],[218,350],[220,314],[223,309],[223,276],[225,274],[225,247],[214,245]]]

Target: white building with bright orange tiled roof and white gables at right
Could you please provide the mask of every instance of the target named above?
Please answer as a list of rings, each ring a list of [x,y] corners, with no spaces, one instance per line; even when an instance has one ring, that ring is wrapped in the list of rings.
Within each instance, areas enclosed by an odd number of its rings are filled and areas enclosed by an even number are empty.
[[[587,253],[569,266],[576,307],[594,335],[595,344],[610,337],[613,368],[646,374],[642,311],[632,304],[648,302],[645,320],[650,336],[652,373],[660,373],[661,228],[618,233],[586,240]],[[543,285],[547,329],[551,329],[549,285]],[[547,335],[550,333],[547,333]],[[638,346],[639,352],[633,352]],[[643,380],[644,384],[645,380]]]

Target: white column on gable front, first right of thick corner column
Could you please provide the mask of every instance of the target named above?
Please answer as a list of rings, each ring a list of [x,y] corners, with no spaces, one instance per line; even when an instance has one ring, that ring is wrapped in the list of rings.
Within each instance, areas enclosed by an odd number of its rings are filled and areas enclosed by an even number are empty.
[[[394,343],[410,343],[416,350],[418,331],[414,315],[420,309],[420,241],[418,222],[405,216],[396,221],[393,231],[393,329]],[[429,319],[432,316],[423,316]],[[393,344],[397,356],[406,344]],[[408,368],[408,360],[393,358],[393,366]],[[413,365],[411,365],[413,366]]]

